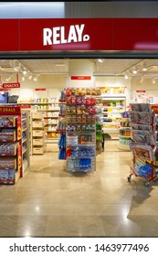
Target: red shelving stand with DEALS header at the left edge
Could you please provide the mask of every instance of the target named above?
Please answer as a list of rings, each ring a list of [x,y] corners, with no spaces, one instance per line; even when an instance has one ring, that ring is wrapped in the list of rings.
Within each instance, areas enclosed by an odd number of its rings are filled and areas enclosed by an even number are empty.
[[[0,106],[0,184],[16,184],[18,178],[24,176],[23,149],[27,140],[22,139],[24,118],[25,113],[19,106]]]

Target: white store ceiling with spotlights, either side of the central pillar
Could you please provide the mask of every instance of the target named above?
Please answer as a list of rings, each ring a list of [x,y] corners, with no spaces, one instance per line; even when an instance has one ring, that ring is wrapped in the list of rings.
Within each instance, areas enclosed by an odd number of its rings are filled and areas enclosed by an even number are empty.
[[[158,59],[89,59],[93,63],[94,76],[124,76],[158,78]],[[19,76],[31,75],[68,75],[68,66],[71,59],[0,59],[0,76],[2,80],[16,73]],[[76,59],[75,61],[84,61]],[[143,71],[143,66],[146,70]],[[15,70],[17,68],[17,70]],[[133,74],[133,69],[138,72]]]

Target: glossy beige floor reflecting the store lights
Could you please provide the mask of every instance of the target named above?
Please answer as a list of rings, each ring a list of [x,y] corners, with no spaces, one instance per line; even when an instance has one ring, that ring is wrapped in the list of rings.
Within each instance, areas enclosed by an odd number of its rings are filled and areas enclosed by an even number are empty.
[[[158,182],[127,181],[131,152],[106,142],[97,170],[71,174],[58,146],[31,156],[15,186],[0,187],[0,236],[158,237]]]

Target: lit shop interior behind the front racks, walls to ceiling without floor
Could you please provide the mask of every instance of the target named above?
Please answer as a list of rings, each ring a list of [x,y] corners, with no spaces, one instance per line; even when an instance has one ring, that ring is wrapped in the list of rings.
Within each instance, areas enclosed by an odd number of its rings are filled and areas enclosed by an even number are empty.
[[[94,90],[100,124],[96,125],[97,159],[107,152],[129,153],[130,103],[158,99],[157,59],[1,59],[0,66],[1,104],[18,104],[28,113],[30,165],[60,158],[59,99],[66,88]]]

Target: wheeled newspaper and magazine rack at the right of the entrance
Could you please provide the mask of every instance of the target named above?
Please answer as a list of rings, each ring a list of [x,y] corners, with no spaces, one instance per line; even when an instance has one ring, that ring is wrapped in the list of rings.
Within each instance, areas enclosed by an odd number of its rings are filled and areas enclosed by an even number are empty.
[[[155,112],[149,103],[131,103],[131,126],[133,155],[132,175],[139,176],[144,181],[144,186],[149,187],[150,181],[155,181],[154,155],[156,152]]]

